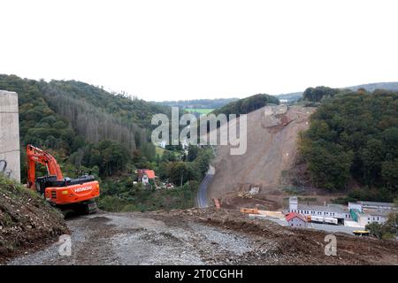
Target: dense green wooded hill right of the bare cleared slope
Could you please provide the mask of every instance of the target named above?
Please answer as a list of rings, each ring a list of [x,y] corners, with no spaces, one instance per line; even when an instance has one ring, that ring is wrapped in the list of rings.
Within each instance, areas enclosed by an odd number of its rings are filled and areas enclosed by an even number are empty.
[[[392,201],[398,193],[398,93],[333,88],[306,93],[315,100],[329,97],[302,134],[302,155],[315,186],[344,191],[355,181],[362,188],[356,196]]]

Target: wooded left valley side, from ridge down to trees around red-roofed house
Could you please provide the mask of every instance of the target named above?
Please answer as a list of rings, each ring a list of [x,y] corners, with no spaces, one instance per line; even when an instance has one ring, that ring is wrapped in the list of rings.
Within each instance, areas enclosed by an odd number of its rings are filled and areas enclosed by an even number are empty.
[[[45,82],[0,75],[0,89],[19,94],[23,182],[27,177],[25,147],[31,143],[56,157],[65,176],[95,174],[101,182],[103,209],[193,206],[197,181],[211,155],[207,149],[189,149],[188,158],[180,146],[157,151],[149,140],[150,120],[157,113],[168,115],[169,107],[74,80]],[[38,168],[39,175],[46,173],[42,166]],[[134,183],[134,171],[140,168],[153,169],[159,181],[182,188],[167,194],[142,188]],[[157,203],[151,203],[155,199]]]

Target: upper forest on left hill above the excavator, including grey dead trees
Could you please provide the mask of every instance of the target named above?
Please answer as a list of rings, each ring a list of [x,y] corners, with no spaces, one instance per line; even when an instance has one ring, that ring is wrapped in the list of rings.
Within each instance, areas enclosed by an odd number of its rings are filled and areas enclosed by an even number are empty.
[[[167,112],[165,107],[74,80],[47,83],[0,75],[0,89],[19,94],[21,147],[31,143],[50,150],[65,170],[97,167],[110,176],[126,169],[133,152],[140,152],[140,162],[155,158],[150,119]],[[21,157],[24,180],[24,150]]]

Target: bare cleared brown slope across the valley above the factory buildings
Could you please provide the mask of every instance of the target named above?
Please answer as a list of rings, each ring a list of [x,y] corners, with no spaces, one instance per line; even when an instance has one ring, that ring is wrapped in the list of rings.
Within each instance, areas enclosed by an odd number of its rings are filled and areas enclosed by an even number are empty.
[[[309,107],[281,105],[250,112],[246,153],[231,155],[230,146],[218,146],[209,198],[217,197],[231,206],[241,205],[241,200],[235,199],[236,193],[242,187],[256,186],[260,187],[258,200],[269,202],[269,209],[280,207],[280,197],[274,203],[269,196],[280,193],[282,175],[295,164],[298,134],[308,128],[313,111]],[[239,125],[239,119],[235,123]],[[226,129],[221,126],[220,131]]]

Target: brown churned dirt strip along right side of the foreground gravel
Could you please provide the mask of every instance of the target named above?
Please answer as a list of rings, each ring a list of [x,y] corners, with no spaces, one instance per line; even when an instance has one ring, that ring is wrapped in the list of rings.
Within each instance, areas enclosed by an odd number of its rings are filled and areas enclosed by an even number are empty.
[[[210,211],[209,211],[210,212]],[[209,213],[208,212],[208,213]],[[335,233],[337,256],[325,255],[325,236],[328,233],[279,226],[268,220],[249,219],[247,215],[231,210],[209,213],[200,218],[203,223],[251,234],[262,242],[261,247],[248,253],[250,264],[397,264],[398,241],[358,238],[345,233]],[[264,249],[266,247],[266,249]]]

